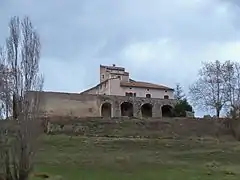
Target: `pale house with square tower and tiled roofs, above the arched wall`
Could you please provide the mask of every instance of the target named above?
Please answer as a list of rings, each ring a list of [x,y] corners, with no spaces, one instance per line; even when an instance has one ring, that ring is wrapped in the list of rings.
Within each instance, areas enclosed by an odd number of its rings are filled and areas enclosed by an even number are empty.
[[[100,65],[100,81],[82,94],[130,96],[141,98],[174,99],[170,87],[130,79],[123,67]]]

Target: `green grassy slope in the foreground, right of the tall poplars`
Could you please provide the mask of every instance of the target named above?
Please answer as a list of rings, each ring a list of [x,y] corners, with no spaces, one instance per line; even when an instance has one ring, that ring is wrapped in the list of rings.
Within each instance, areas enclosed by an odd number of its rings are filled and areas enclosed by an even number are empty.
[[[240,143],[44,136],[35,173],[65,180],[235,180]],[[37,178],[32,178],[37,180]]]

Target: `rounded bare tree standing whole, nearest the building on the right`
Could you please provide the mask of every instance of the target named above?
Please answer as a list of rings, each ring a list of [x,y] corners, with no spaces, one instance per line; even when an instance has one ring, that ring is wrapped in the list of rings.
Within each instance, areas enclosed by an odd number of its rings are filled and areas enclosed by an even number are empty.
[[[222,64],[218,60],[203,63],[199,78],[190,86],[189,93],[194,106],[214,109],[217,117],[220,116],[220,111],[226,102],[222,76]]]

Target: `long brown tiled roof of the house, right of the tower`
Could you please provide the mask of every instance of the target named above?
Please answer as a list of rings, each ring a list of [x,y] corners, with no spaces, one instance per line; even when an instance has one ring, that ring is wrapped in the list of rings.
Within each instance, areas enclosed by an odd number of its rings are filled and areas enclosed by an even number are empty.
[[[163,90],[173,90],[170,87],[163,86],[163,85],[158,85],[158,84],[153,84],[153,83],[148,83],[148,82],[141,82],[141,81],[134,81],[130,79],[129,82],[121,82],[121,86],[125,87],[139,87],[139,88],[149,88],[149,89],[163,89]]]

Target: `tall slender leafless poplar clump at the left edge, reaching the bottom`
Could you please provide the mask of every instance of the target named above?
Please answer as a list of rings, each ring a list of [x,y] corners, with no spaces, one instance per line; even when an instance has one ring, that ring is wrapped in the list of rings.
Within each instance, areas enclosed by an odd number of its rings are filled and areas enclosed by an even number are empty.
[[[14,133],[1,131],[0,146],[4,148],[0,148],[0,171],[5,180],[27,180],[41,130],[38,121],[39,92],[43,88],[43,76],[39,73],[40,39],[28,17],[11,18],[9,30],[1,51],[0,82],[4,93],[0,101],[5,118],[14,124]]]

